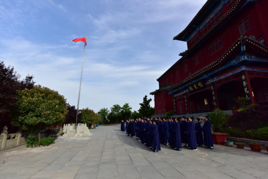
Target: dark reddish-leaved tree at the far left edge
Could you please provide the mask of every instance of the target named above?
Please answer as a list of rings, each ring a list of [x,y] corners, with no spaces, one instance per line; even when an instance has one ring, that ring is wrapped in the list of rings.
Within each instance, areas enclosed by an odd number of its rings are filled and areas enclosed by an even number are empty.
[[[11,130],[11,110],[17,104],[17,90],[32,89],[34,85],[33,76],[26,76],[20,81],[20,75],[16,73],[14,67],[4,65],[0,61],[0,130],[4,126]],[[16,131],[13,131],[16,132]]]

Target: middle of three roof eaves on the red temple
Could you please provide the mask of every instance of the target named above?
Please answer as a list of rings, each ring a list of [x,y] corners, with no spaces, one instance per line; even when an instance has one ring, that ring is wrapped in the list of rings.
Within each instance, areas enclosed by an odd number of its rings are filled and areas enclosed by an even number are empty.
[[[224,15],[218,20],[218,22],[212,26],[196,43],[194,43],[189,49],[185,50],[184,52],[181,52],[180,56],[186,56],[187,53],[192,51],[200,42],[202,42],[208,35],[213,33],[218,27],[220,27],[227,19],[229,19],[230,16],[232,16],[239,7],[243,4],[244,0],[237,0],[236,4]],[[174,39],[173,39],[174,40]]]

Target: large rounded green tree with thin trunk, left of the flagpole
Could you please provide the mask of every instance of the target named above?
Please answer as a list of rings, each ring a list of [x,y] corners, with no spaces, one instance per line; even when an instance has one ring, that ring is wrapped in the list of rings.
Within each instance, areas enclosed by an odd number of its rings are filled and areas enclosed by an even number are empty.
[[[38,85],[31,90],[18,91],[17,98],[19,100],[13,113],[12,125],[22,130],[37,130],[38,145],[41,129],[61,124],[67,114],[67,108],[64,107],[66,99],[47,87]]]

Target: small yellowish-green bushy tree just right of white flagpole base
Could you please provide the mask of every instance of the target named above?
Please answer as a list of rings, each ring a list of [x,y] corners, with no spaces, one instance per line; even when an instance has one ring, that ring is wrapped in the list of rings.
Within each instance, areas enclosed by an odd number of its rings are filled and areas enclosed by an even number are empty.
[[[91,125],[101,121],[101,116],[96,114],[93,110],[85,108],[81,110],[81,113],[81,122],[84,124]]]

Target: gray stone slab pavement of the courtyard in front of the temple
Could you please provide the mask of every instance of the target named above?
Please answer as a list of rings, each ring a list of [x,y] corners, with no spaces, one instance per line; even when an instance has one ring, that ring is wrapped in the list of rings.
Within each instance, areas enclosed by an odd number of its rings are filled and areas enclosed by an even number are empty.
[[[120,126],[0,152],[0,179],[268,179],[268,153],[218,146],[153,153]]]

